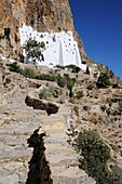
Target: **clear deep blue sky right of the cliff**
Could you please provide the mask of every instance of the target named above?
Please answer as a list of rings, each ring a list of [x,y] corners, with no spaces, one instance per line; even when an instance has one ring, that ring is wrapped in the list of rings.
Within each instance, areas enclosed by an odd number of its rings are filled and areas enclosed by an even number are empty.
[[[69,2],[87,56],[122,79],[122,0]]]

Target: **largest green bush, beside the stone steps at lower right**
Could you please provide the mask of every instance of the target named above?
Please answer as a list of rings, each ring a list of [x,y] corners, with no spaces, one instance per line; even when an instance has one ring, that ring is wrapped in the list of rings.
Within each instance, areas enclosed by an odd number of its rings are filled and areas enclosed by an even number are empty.
[[[110,149],[97,131],[84,130],[76,139],[74,147],[84,157],[80,160],[80,168],[93,176],[97,184],[120,184],[119,178],[108,169]]]

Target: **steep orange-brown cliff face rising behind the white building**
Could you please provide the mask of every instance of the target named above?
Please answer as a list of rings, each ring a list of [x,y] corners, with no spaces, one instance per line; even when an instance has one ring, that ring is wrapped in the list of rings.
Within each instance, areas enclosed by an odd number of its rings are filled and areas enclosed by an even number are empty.
[[[84,55],[82,41],[73,27],[68,0],[1,0],[0,19],[0,53],[5,56],[18,58],[18,28],[24,22],[38,31],[71,30],[81,55]]]

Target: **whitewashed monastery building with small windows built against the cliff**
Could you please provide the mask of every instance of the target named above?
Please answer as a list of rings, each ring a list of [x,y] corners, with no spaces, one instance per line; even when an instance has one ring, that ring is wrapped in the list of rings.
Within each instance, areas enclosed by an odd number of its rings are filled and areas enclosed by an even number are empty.
[[[31,26],[23,25],[19,28],[21,45],[29,40],[29,38],[38,42],[44,42],[45,50],[43,51],[44,61],[36,61],[38,65],[49,66],[53,68],[56,65],[67,66],[76,65],[85,70],[86,65],[81,64],[81,57],[77,41],[73,40],[71,31],[59,32],[38,32]],[[23,49],[25,63],[32,63],[31,58],[27,61],[25,49]]]

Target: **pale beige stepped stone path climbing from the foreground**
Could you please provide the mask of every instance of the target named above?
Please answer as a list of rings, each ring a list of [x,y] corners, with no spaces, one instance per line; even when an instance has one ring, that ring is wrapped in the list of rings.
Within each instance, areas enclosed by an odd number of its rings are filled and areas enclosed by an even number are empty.
[[[25,104],[33,89],[17,89],[6,96],[8,105],[0,107],[0,184],[25,184],[32,148],[27,139],[42,126],[46,133],[45,157],[50,162],[54,184],[94,184],[94,180],[76,166],[77,154],[67,143],[66,116],[70,106],[60,105],[59,111],[48,116]]]

